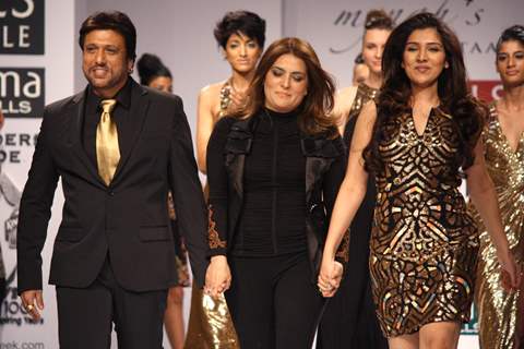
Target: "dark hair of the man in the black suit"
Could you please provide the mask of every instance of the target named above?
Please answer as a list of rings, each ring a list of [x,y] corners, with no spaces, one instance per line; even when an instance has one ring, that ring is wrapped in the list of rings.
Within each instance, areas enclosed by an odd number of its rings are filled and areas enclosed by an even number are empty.
[[[85,36],[93,31],[110,29],[120,34],[126,40],[127,57],[136,58],[136,28],[126,13],[119,11],[95,12],[80,27],[79,45],[84,49]]]

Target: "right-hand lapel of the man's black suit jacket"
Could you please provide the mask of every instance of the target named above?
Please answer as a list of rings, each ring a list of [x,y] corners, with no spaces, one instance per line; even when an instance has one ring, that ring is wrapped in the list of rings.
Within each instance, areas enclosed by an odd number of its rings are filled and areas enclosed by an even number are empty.
[[[147,107],[150,106],[150,99],[147,98],[147,91],[136,84],[134,81],[132,83],[131,91],[131,107],[129,113],[129,120],[124,123],[126,127],[121,132],[119,131],[118,136],[124,137],[124,144],[128,146],[121,149],[120,161],[118,163],[115,176],[111,182],[114,185],[121,177],[121,172],[129,160],[131,153],[133,152],[142,128],[144,125],[145,118],[147,116]]]

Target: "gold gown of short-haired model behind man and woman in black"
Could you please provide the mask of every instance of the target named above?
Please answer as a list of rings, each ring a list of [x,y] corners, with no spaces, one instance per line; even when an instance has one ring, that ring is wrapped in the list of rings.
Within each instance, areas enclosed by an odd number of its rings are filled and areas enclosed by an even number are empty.
[[[218,118],[227,113],[231,101],[229,98],[230,88],[230,83],[227,81],[221,89]],[[216,121],[214,120],[215,123]],[[204,193],[207,200],[207,185]],[[240,349],[224,294],[212,298],[204,294],[201,288],[192,288],[191,313],[184,349]]]

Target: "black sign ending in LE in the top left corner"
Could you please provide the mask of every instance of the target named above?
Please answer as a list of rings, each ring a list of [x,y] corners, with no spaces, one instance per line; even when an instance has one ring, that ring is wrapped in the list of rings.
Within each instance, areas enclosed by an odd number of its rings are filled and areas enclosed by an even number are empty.
[[[0,55],[44,55],[44,0],[0,1]]]

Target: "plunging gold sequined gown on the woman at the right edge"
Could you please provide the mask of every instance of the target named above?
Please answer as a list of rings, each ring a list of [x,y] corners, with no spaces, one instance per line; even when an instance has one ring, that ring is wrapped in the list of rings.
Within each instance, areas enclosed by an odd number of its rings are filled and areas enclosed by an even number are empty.
[[[502,225],[510,249],[522,266],[524,262],[524,135],[521,136],[516,149],[512,149],[500,128],[497,109],[492,106],[483,133],[483,141],[486,166],[497,191]],[[520,338],[521,346],[524,345],[522,291],[510,293],[502,288],[496,250],[473,205],[472,213],[478,222],[480,236],[475,296],[480,347],[516,349],[516,338]]]

